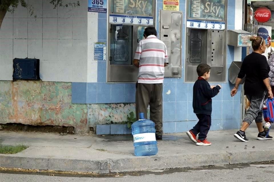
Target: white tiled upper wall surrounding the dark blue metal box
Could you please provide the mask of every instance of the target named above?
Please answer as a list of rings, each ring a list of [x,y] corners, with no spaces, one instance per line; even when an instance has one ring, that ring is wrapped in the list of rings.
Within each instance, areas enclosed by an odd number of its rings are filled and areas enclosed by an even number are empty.
[[[50,0],[28,2],[37,18],[19,5],[13,14],[7,13],[1,26],[0,80],[12,80],[14,58],[28,57],[40,59],[43,81],[87,82],[87,0],[80,0],[80,7],[56,9]],[[92,26],[97,27],[97,19]]]

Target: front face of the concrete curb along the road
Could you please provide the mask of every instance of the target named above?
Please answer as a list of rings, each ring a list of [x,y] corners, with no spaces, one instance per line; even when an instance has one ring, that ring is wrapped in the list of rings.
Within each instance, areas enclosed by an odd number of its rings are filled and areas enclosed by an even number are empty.
[[[220,166],[273,160],[274,153],[266,150],[244,151],[237,153],[227,151],[210,154],[156,155],[106,160],[33,158],[0,154],[0,167],[111,173],[181,167]]]

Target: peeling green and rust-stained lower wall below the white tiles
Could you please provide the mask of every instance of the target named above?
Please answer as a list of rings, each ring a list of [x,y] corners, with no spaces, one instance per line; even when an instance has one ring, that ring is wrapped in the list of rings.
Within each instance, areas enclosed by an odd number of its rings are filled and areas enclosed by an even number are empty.
[[[135,104],[71,104],[71,83],[0,81],[0,123],[72,126],[86,133],[97,124],[127,121]],[[149,114],[148,114],[149,115]]]

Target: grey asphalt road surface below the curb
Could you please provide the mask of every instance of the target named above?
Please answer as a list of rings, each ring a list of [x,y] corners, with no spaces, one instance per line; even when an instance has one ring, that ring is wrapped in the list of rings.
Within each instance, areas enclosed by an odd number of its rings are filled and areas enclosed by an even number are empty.
[[[137,173],[116,173],[97,177],[68,177],[37,174],[0,173],[1,182],[274,182],[274,164],[243,164],[196,169],[171,169]]]

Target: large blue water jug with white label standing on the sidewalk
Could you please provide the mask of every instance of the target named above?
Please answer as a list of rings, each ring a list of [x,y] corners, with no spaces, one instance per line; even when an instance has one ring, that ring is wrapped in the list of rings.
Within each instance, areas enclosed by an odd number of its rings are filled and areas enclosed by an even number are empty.
[[[139,114],[139,120],[131,125],[135,156],[151,156],[158,152],[155,137],[155,123]]]

